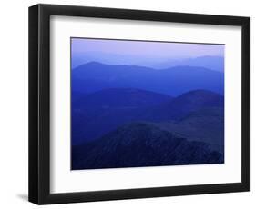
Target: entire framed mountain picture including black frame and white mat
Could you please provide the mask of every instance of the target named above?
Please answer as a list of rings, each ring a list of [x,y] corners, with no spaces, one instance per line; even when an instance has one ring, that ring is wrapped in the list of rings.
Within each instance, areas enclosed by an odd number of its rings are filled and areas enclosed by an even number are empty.
[[[249,191],[249,17],[29,8],[29,201]]]

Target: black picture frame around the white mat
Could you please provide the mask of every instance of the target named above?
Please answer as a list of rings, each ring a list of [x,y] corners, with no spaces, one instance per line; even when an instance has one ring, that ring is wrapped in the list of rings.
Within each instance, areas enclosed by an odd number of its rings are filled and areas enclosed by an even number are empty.
[[[50,16],[241,26],[241,183],[50,194]],[[33,5],[29,7],[29,201],[65,204],[130,198],[216,194],[250,190],[250,18],[114,8]]]

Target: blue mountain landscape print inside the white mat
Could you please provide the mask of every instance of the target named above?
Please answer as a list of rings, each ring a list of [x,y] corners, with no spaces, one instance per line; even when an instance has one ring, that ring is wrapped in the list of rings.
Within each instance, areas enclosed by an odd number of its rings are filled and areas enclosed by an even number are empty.
[[[70,38],[71,170],[224,164],[225,44]]]

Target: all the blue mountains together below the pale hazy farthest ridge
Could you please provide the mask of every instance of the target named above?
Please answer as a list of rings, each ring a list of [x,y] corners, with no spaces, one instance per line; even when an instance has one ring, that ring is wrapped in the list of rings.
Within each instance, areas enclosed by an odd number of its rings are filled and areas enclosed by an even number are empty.
[[[97,62],[72,70],[72,169],[224,163],[224,75]]]

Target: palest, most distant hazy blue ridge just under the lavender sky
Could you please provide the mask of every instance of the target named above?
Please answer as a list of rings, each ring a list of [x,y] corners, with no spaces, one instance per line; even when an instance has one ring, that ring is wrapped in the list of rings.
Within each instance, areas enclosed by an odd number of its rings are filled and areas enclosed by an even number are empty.
[[[179,65],[201,66],[211,70],[224,72],[224,57],[204,55],[193,58],[143,57],[138,55],[118,55],[100,52],[76,53],[72,56],[72,68],[97,60],[106,65],[138,65],[156,69],[164,69]]]

